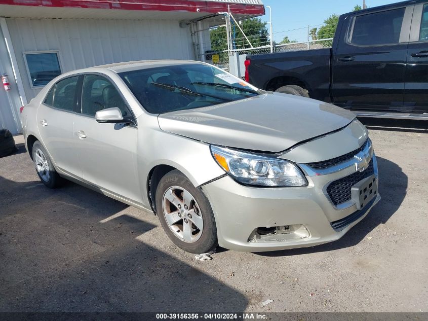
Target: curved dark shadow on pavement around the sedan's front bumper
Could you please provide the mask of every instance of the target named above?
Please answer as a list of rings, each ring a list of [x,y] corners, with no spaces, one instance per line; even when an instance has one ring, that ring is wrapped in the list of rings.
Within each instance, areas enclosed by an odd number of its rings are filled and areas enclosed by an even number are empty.
[[[373,231],[378,225],[385,224],[399,209],[406,193],[408,178],[396,163],[377,157],[379,168],[379,193],[382,199],[377,203],[368,215],[349,230],[337,241],[296,249],[282,251],[255,253],[260,256],[293,256],[308,253],[334,251],[335,249],[357,245],[364,237]]]

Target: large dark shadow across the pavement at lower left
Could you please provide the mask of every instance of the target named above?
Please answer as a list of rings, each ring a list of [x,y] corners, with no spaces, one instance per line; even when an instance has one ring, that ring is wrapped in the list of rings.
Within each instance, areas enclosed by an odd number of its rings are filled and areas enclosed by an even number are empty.
[[[202,262],[185,262],[192,256],[172,242],[166,252],[137,238],[157,227],[150,213],[130,216],[140,211],[73,183],[51,190],[0,176],[0,192],[2,312],[243,311],[249,304],[199,269]]]

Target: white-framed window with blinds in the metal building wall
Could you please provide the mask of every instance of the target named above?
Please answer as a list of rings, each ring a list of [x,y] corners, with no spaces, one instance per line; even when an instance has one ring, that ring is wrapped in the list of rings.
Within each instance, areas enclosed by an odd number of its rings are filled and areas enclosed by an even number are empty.
[[[24,52],[31,87],[43,87],[61,75],[58,51]]]

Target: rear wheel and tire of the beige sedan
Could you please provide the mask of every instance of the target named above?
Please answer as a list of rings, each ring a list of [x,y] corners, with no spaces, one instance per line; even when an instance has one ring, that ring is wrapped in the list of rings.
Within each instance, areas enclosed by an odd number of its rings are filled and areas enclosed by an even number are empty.
[[[51,159],[40,141],[36,140],[32,147],[33,162],[38,177],[49,188],[57,188],[60,186],[61,177],[55,170]]]

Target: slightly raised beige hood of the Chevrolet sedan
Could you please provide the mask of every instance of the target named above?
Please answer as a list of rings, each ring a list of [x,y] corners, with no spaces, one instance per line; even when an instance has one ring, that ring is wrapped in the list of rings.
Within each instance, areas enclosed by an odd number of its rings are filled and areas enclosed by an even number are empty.
[[[264,93],[213,106],[161,114],[162,130],[210,144],[280,152],[342,127],[355,114],[332,104]]]

